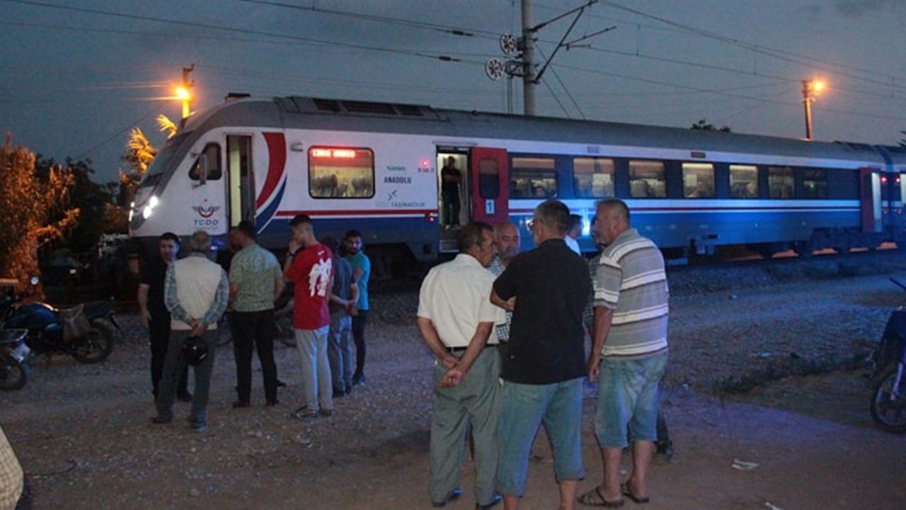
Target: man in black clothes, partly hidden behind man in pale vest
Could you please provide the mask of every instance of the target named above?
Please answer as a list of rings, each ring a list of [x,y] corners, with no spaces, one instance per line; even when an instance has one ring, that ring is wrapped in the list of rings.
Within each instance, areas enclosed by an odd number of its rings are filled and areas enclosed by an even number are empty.
[[[170,317],[164,305],[164,280],[169,263],[176,260],[179,252],[179,238],[173,232],[165,232],[158,240],[159,257],[151,257],[139,283],[139,309],[141,324],[149,329],[151,344],[151,391],[158,397],[160,376],[164,370],[169,345]],[[188,366],[182,371],[177,387],[177,398],[191,402],[188,392]]]

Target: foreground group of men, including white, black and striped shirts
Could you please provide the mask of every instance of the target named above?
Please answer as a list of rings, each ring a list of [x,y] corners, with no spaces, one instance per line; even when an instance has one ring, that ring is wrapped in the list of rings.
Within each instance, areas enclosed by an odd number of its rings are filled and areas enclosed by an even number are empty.
[[[535,249],[521,254],[515,225],[470,223],[458,232],[457,258],[422,282],[417,323],[437,358],[429,482],[436,507],[462,495],[458,477],[471,430],[476,508],[501,500],[506,510],[518,508],[542,426],[561,509],[649,501],[668,357],[663,259],[631,228],[622,201],[598,204],[593,237],[602,252],[590,262],[564,240],[577,237],[575,220],[563,202],[543,202],[528,224]],[[583,326],[593,340],[587,356]],[[580,495],[585,378],[598,383],[594,430],[603,477]],[[630,438],[632,469],[623,481]]]

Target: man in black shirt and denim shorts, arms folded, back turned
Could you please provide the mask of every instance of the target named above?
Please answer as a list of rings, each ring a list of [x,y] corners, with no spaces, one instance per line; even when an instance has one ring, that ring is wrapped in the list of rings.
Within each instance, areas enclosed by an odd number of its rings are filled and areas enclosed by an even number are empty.
[[[497,488],[506,510],[525,493],[528,457],[545,426],[554,450],[560,508],[572,510],[582,466],[582,312],[591,279],[588,266],[564,242],[569,209],[545,201],[530,223],[535,250],[513,259],[494,282],[491,301],[513,310],[502,354]]]

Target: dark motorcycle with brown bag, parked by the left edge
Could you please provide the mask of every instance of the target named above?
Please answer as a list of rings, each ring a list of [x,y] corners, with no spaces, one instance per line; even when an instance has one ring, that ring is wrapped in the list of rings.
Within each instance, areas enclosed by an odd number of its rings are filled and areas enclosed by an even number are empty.
[[[32,279],[37,285],[37,278]],[[100,363],[113,351],[113,332],[120,331],[111,301],[91,301],[71,309],[42,302],[22,303],[27,294],[10,291],[0,297],[0,319],[6,329],[27,329],[25,343],[36,354],[66,354],[82,363]]]

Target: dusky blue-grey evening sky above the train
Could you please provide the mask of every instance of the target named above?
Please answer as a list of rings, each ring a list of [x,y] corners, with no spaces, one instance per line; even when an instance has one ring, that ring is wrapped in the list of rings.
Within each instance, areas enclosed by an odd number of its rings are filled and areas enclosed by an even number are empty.
[[[533,0],[535,23],[578,5]],[[539,33],[554,52],[571,17]],[[586,9],[538,87],[540,114],[805,135],[803,79],[828,83],[814,138],[896,144],[906,135],[902,0],[616,0]],[[196,111],[226,93],[506,112],[499,34],[511,0],[0,0],[0,129],[34,152],[91,159],[111,181],[129,130],[154,117],[195,64]],[[463,31],[471,36],[450,34]],[[445,62],[440,56],[459,59]],[[522,113],[521,82],[513,83]],[[552,93],[553,91],[553,93]]]

